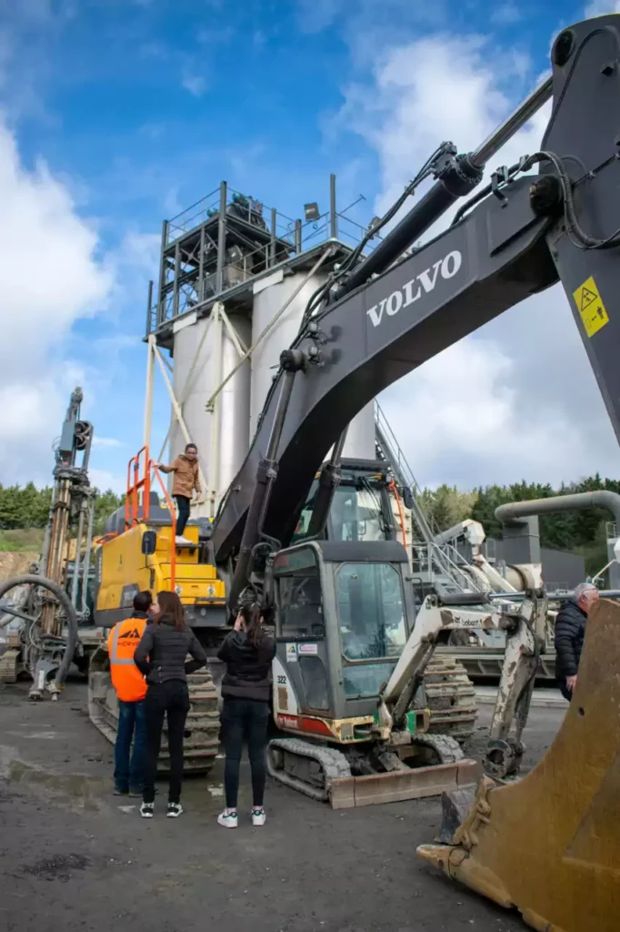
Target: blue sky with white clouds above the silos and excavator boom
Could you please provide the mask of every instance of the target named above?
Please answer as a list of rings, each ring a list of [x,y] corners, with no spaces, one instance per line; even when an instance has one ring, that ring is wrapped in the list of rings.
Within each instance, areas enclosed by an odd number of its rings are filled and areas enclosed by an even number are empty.
[[[81,384],[94,479],[123,487],[164,217],[222,178],[299,216],[327,205],[335,171],[368,222],[439,142],[476,146],[583,15],[566,0],[0,0],[0,482],[49,481]],[[536,148],[545,121],[490,168]],[[423,485],[620,475],[559,287],[381,400]],[[161,386],[155,410],[163,436]]]

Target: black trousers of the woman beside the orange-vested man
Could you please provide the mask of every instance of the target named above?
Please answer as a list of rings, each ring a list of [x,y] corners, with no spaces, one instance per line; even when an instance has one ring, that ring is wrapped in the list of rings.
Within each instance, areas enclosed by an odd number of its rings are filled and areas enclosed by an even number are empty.
[[[183,732],[189,712],[189,692],[181,679],[168,679],[149,686],[144,700],[146,712],[146,770],[144,773],[144,802],[155,801],[157,758],[161,747],[164,717],[168,717],[169,786],[168,802],[181,801],[183,778]]]

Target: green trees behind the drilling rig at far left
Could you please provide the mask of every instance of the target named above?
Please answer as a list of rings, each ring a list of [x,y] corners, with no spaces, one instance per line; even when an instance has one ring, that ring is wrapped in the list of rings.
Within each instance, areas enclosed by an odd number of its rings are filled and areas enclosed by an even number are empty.
[[[0,485],[0,530],[45,528],[51,507],[51,487],[37,488],[33,482],[26,486]],[[125,500],[111,489],[100,492],[95,489],[96,534],[101,534],[105,519]]]

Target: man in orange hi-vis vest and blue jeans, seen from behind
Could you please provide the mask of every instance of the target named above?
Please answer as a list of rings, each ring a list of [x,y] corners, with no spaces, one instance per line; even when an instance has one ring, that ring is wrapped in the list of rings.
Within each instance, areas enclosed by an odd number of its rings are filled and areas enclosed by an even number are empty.
[[[142,796],[146,761],[146,682],[133,662],[133,653],[148,624],[152,602],[150,592],[139,592],[133,599],[131,618],[115,624],[108,637],[110,674],[118,698],[115,796]],[[132,738],[133,752],[130,754]]]

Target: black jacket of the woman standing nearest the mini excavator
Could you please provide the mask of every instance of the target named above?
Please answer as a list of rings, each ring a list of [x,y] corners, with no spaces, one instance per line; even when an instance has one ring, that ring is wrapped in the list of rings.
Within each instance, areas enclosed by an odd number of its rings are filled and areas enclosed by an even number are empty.
[[[253,647],[245,631],[231,631],[218,651],[226,665],[222,679],[222,696],[269,702],[271,662],[276,655],[276,641],[263,635]]]

